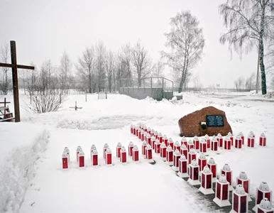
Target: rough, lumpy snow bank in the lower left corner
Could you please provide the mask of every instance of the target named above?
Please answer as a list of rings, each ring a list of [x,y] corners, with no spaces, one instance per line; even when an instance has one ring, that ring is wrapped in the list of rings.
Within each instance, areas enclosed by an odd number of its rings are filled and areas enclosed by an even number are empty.
[[[31,147],[16,148],[0,168],[0,212],[19,212],[29,181],[35,175],[35,162],[46,150],[50,133],[43,131]]]

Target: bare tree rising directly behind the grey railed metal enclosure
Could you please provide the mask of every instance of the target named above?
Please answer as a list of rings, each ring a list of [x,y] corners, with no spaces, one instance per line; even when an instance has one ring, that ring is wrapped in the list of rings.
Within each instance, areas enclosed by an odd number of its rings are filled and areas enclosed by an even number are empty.
[[[151,72],[151,60],[148,56],[148,50],[139,40],[131,50],[133,67],[135,68],[138,86],[141,87],[141,82],[144,77],[148,76]]]

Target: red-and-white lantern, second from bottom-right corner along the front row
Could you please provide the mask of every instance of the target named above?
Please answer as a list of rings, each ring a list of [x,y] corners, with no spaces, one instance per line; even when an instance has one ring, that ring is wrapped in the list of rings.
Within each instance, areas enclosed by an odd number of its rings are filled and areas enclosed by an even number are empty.
[[[232,209],[230,213],[248,212],[248,193],[245,192],[243,185],[237,185],[232,192]]]

